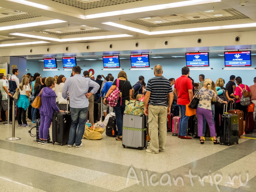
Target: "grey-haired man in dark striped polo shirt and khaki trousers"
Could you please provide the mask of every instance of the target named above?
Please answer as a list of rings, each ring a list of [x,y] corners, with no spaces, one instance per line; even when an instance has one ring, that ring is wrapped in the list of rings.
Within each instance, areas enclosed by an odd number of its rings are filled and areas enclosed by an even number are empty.
[[[146,152],[149,153],[158,153],[164,151],[167,135],[166,117],[167,114],[171,112],[173,101],[170,81],[164,78],[162,73],[163,67],[161,65],[155,65],[155,77],[148,80],[146,87],[144,113],[145,115],[148,115],[150,149],[147,149]]]

